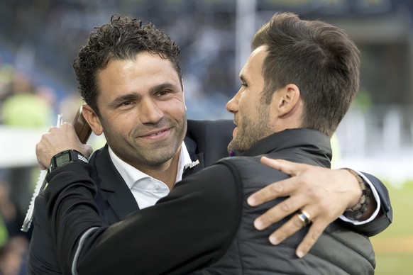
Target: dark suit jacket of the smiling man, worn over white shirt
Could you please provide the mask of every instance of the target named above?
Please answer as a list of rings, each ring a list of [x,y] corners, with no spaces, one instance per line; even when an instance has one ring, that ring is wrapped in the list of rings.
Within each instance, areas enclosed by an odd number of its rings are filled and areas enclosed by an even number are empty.
[[[199,164],[187,169],[183,177],[194,174],[222,157],[228,155],[226,147],[232,138],[231,120],[188,120],[185,145],[192,160]],[[129,213],[138,210],[138,203],[109,157],[107,145],[94,152],[89,159],[91,176],[97,184],[95,201],[101,219],[111,225],[123,220]],[[31,238],[29,264],[30,274],[62,274],[57,261],[48,228],[48,213],[45,199],[40,194],[35,199],[33,235]]]

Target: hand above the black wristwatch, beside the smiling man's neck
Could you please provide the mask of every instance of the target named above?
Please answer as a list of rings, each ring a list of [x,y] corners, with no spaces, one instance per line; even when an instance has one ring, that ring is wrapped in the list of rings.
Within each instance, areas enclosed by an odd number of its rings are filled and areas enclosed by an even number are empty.
[[[40,169],[47,169],[54,155],[70,149],[81,152],[85,157],[92,154],[92,147],[80,142],[72,124],[62,123],[60,127],[50,128],[49,132],[43,134],[40,142],[36,145],[36,156]]]

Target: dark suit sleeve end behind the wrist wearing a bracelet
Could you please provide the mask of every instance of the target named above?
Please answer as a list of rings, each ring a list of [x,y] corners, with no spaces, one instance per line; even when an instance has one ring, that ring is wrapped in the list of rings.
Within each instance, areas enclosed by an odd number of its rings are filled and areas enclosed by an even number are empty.
[[[390,196],[386,186],[380,181],[380,179],[376,178],[375,176],[367,174],[365,172],[362,173],[370,180],[376,191],[378,191],[380,198],[380,211],[376,218],[369,223],[350,226],[354,230],[362,232],[364,235],[371,237],[382,232],[390,225],[390,223],[392,223],[393,211],[392,206],[390,205]]]

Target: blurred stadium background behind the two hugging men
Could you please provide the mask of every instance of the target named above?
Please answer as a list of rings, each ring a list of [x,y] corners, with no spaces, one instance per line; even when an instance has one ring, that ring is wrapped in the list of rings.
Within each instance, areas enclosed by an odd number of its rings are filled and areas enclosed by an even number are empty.
[[[372,238],[376,274],[410,274],[411,0],[1,0],[0,274],[26,274],[30,232],[20,228],[38,176],[35,143],[57,113],[71,121],[82,103],[72,61],[94,26],[120,14],[166,30],[181,47],[188,118],[231,119],[225,104],[238,91],[252,35],[277,11],[343,28],[360,48],[360,91],[334,136],[334,167],[385,182],[395,217]],[[97,149],[104,140],[91,142]]]

